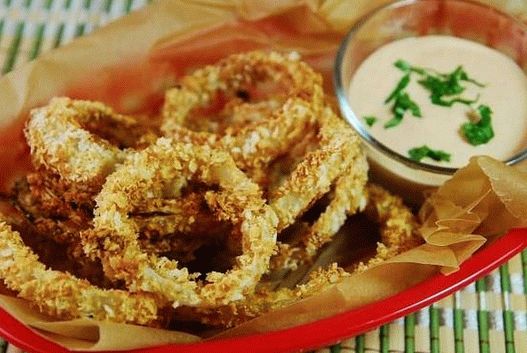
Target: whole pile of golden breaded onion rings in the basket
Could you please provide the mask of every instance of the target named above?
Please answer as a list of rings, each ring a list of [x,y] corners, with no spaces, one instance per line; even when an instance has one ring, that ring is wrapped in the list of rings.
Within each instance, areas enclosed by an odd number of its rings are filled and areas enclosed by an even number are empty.
[[[0,216],[0,278],[60,319],[231,327],[418,245],[412,213],[367,184],[359,138],[328,101],[298,55],[260,51],[182,78],[159,126],[52,99],[30,114],[35,171],[10,200],[43,244],[99,272],[48,268]],[[380,228],[372,258],[276,289],[363,211]]]

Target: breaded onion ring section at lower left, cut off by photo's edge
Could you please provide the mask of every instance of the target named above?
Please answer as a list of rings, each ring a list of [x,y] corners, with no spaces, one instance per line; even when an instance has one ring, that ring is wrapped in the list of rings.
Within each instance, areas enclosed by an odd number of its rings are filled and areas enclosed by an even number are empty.
[[[46,269],[20,234],[0,220],[0,278],[40,312],[61,319],[93,318],[153,324],[158,303],[148,293],[104,290],[69,273]]]

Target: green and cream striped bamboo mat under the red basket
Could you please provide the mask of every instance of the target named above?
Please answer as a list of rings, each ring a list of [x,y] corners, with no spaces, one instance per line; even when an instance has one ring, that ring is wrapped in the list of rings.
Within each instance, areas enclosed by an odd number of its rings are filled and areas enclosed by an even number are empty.
[[[0,0],[0,74],[148,2]],[[0,339],[4,352],[16,350]],[[527,353],[527,251],[424,310],[318,351],[326,352]]]

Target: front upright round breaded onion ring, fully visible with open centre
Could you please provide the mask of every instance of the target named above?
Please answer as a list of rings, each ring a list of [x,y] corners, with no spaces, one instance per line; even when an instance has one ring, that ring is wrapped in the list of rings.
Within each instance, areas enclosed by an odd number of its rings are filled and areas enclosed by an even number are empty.
[[[185,177],[218,191],[206,192],[218,217],[235,224],[243,254],[234,268],[210,272],[198,288],[195,275],[177,262],[147,256],[138,244],[137,224],[129,213],[147,198],[162,197],[175,178]],[[169,190],[170,192],[170,190]],[[94,229],[81,233],[85,253],[102,260],[110,278],[124,280],[129,290],[154,292],[173,306],[217,306],[240,300],[268,268],[276,242],[276,216],[252,183],[225,152],[161,138],[111,174],[96,198]]]

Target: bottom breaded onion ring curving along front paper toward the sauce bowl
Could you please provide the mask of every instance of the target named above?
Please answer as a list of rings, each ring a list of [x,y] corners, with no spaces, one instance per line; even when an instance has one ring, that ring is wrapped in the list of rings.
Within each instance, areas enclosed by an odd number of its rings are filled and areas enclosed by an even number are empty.
[[[417,231],[415,216],[403,204],[400,197],[374,184],[368,184],[364,192],[368,198],[365,212],[368,217],[379,223],[381,242],[378,244],[377,254],[366,263],[357,264],[353,273],[364,272],[422,243],[422,238]],[[291,305],[298,300],[320,293],[350,275],[351,273],[332,264],[327,269],[312,272],[305,284],[297,285],[294,289],[275,290],[264,282],[245,300],[232,302],[214,310],[182,308],[178,315],[187,320],[196,320],[212,326],[232,327],[265,312]]]

